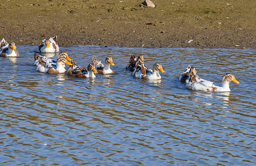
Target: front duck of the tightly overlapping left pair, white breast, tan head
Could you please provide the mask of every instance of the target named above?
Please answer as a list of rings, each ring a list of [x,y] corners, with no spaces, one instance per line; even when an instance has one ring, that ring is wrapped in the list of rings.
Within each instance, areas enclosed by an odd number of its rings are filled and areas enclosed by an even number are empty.
[[[56,62],[56,69],[52,66],[52,63],[46,63],[45,64],[45,71],[48,74],[58,74],[58,73],[65,73],[66,69],[64,68],[64,65],[72,65],[67,59],[65,58],[58,58]]]

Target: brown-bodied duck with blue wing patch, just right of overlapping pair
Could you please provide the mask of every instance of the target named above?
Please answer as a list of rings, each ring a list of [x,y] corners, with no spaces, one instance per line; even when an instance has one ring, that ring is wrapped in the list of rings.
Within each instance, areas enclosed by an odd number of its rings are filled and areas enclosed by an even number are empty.
[[[74,77],[83,77],[83,78],[95,78],[95,74],[97,74],[97,71],[95,69],[95,65],[93,63],[90,63],[87,66],[87,69],[79,66],[76,64],[76,62],[71,59],[69,70],[67,71],[69,76],[74,76]]]

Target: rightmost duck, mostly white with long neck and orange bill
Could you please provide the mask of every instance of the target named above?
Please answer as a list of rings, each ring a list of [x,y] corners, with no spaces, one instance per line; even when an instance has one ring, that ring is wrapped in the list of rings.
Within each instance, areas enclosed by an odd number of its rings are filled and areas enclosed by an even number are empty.
[[[222,85],[218,86],[211,81],[196,77],[196,71],[192,70],[189,75],[188,89],[201,90],[205,92],[230,92],[230,82],[239,84],[234,74],[226,73],[222,78]]]

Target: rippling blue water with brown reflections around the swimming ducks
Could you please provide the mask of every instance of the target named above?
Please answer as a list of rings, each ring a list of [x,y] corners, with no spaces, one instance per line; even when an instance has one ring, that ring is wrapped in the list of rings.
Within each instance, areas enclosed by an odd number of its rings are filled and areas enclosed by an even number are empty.
[[[115,74],[84,79],[39,73],[37,46],[17,49],[19,58],[0,58],[1,165],[256,165],[255,50],[61,47],[84,67],[112,56]],[[132,77],[131,53],[150,68],[160,62],[162,79]],[[216,83],[231,72],[240,84],[189,90],[178,80],[187,65]]]

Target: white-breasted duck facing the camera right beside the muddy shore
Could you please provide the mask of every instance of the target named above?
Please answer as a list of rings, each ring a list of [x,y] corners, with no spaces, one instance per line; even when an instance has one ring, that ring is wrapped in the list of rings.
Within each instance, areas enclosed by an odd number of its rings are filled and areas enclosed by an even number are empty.
[[[57,36],[42,40],[41,44],[38,46],[38,49],[41,53],[59,52],[59,47],[57,44]]]

